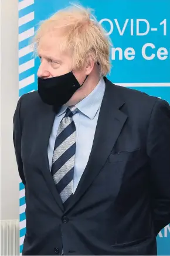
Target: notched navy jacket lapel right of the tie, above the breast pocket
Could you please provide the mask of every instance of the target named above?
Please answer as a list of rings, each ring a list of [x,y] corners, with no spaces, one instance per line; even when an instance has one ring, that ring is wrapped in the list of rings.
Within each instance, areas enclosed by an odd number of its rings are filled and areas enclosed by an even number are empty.
[[[97,177],[101,168],[107,161],[108,155],[113,149],[121,129],[127,120],[127,115],[119,110],[125,102],[119,97],[115,85],[108,81],[107,78],[105,78],[105,81],[106,91],[101,104],[89,161],[81,176],[72,201],[70,201],[70,204],[66,209],[67,211],[76,204]]]

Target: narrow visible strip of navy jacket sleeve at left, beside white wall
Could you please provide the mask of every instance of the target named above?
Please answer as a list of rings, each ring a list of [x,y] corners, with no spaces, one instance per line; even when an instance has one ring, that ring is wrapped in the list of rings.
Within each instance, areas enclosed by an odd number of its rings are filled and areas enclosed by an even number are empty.
[[[23,165],[22,165],[22,158],[21,158],[21,135],[22,135],[22,127],[21,127],[21,97],[18,101],[16,106],[15,113],[13,115],[13,144],[15,148],[15,155],[16,155],[16,162],[18,165],[19,176],[25,185],[25,177],[23,173]]]

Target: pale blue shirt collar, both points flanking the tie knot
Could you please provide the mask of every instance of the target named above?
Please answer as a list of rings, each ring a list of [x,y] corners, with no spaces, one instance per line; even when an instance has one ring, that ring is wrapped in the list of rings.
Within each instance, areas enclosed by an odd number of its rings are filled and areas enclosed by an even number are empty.
[[[93,119],[100,108],[104,91],[105,91],[105,82],[103,77],[100,78],[97,86],[93,89],[93,91],[87,95],[86,98],[82,99],[79,103],[76,104],[76,107],[81,111],[84,115]],[[67,107],[62,106],[57,113],[57,117],[62,115],[66,111]]]

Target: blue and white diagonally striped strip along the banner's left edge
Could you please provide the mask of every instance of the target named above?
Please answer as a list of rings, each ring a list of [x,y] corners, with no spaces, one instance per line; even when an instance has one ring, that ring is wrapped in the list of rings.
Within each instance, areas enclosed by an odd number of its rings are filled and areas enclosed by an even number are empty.
[[[35,34],[34,0],[18,1],[19,26],[19,97],[35,91],[35,59],[33,57],[32,37]],[[25,188],[19,182],[19,224],[20,224],[20,254],[26,232],[25,220]]]

